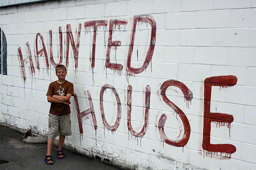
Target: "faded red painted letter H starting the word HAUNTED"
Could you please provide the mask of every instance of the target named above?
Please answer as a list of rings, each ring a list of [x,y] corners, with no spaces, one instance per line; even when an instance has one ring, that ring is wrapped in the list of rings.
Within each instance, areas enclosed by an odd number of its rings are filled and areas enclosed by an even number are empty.
[[[33,75],[33,73],[35,73],[35,68],[34,68],[34,64],[33,64],[33,60],[32,60],[32,54],[31,54],[31,50],[30,50],[30,45],[27,42],[26,43],[26,47],[27,47],[27,52],[28,52],[28,57],[23,59],[22,56],[22,52],[21,52],[21,48],[18,48],[18,58],[19,58],[19,63],[20,63],[20,68],[21,68],[21,76],[23,77],[23,81],[26,81],[26,70],[25,70],[25,64],[29,61],[30,62],[30,70],[31,70],[31,74]]]

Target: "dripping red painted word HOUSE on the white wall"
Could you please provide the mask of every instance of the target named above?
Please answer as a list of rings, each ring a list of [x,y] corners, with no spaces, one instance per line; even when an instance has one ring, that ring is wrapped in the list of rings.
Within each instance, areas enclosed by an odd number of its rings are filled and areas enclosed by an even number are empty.
[[[233,76],[233,75],[209,77],[204,80],[204,125],[203,125],[202,149],[206,150],[206,154],[217,154],[217,155],[219,154],[221,159],[230,158],[231,154],[236,152],[236,147],[232,144],[211,144],[210,143],[211,122],[215,122],[215,123],[219,124],[219,126],[227,125],[227,127],[230,128],[230,124],[231,124],[231,122],[234,121],[234,118],[232,115],[229,115],[229,114],[210,112],[211,87],[219,86],[219,87],[227,88],[227,87],[234,86],[236,83],[237,83],[237,78],[236,78],[236,76]],[[167,115],[165,113],[163,113],[161,115],[161,117],[158,121],[158,132],[160,134],[161,140],[164,143],[167,143],[171,146],[184,147],[189,141],[191,128],[190,128],[190,124],[189,124],[186,114],[178,106],[176,106],[176,104],[174,104],[172,101],[170,101],[167,98],[167,96],[165,95],[165,91],[170,86],[175,86],[175,87],[179,88],[182,91],[182,93],[184,94],[184,98],[186,99],[187,102],[191,102],[191,100],[193,99],[192,92],[182,82],[179,82],[176,80],[167,80],[167,81],[163,82],[163,84],[161,84],[161,87],[160,87],[160,96],[163,99],[163,101],[165,102],[165,104],[167,104],[167,106],[169,106],[175,113],[177,113],[177,115],[179,115],[179,117],[183,123],[184,133],[183,133],[182,139],[176,140],[176,141],[169,139],[167,137],[167,135],[165,135],[164,125],[165,125],[165,122],[167,121]],[[104,91],[106,91],[107,89],[110,89],[114,93],[115,98],[116,98],[116,103],[117,103],[117,118],[116,118],[115,124],[113,124],[112,126],[109,125],[108,122],[106,121],[105,114],[104,114],[104,107],[103,107]],[[91,114],[91,117],[93,120],[93,126],[95,129],[95,135],[96,135],[96,130],[97,130],[98,126],[97,126],[97,121],[95,118],[93,101],[91,99],[90,91],[87,90],[86,93],[87,93],[87,98],[89,101],[89,108],[83,112],[80,111],[77,96],[74,95],[79,130],[80,130],[80,134],[82,134],[83,133],[82,118],[85,116],[88,117],[89,114]],[[131,124],[132,86],[128,85],[128,87],[127,87],[127,127],[128,127],[129,133],[131,133],[131,135],[134,135],[135,137],[143,137],[148,130],[150,93],[151,93],[150,86],[147,85],[146,89],[145,89],[144,125],[140,132],[135,132],[135,130],[132,128],[132,124]],[[119,98],[119,94],[117,93],[117,91],[111,84],[104,84],[100,90],[100,112],[101,112],[101,117],[102,117],[102,122],[104,124],[104,127],[106,127],[108,130],[116,131],[120,124],[122,110],[121,110],[121,101]]]

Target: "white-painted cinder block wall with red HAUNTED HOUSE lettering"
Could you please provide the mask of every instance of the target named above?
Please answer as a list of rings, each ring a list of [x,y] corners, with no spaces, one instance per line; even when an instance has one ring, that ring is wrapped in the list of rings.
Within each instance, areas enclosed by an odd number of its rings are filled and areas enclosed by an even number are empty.
[[[255,0],[51,0],[0,14],[0,122],[46,135],[63,59],[77,95],[65,142],[78,152],[136,170],[256,169]]]

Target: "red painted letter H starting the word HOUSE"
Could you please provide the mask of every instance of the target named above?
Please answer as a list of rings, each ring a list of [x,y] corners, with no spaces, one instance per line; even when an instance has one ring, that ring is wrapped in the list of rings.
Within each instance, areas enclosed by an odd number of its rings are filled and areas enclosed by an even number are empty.
[[[91,113],[91,117],[93,119],[93,125],[94,125],[95,131],[98,128],[96,117],[95,117],[95,112],[94,112],[94,108],[93,108],[93,101],[91,99],[91,93],[90,93],[89,90],[87,90],[87,96],[88,96],[88,101],[89,101],[90,108],[83,111],[83,112],[80,112],[77,95],[74,94],[74,101],[75,101],[75,107],[76,107],[76,113],[77,113],[77,119],[78,119],[80,134],[83,133],[83,119],[82,118],[89,115],[90,113]]]

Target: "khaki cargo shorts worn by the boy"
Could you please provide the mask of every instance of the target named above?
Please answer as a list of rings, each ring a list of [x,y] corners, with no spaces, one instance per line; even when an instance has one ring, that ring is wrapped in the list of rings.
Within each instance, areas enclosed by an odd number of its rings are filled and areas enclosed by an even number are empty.
[[[58,116],[58,115],[49,113],[48,122],[49,122],[48,124],[49,139],[54,139],[58,135],[63,135],[63,136],[72,135],[70,114]]]

